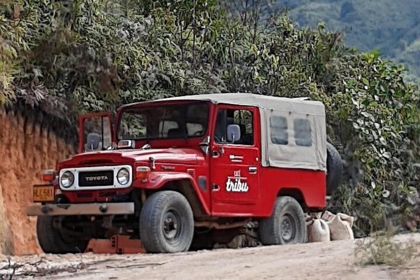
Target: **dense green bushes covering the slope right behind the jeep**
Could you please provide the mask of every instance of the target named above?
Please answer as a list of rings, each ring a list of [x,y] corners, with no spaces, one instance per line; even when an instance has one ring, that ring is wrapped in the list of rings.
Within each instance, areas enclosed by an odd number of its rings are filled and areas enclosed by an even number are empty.
[[[232,13],[215,0],[1,0],[1,104],[74,127],[84,112],[168,96],[310,96],[324,102],[329,141],[346,162],[329,209],[358,217],[357,236],[390,217],[415,218],[418,87],[402,66],[346,48],[340,33],[299,29],[284,14],[262,21],[263,9],[261,1]]]

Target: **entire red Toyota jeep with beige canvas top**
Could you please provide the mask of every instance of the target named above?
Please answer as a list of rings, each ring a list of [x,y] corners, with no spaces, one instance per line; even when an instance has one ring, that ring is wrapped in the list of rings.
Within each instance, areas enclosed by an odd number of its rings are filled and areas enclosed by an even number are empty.
[[[114,125],[112,125],[114,124]],[[46,253],[91,238],[140,238],[147,252],[227,243],[245,224],[262,244],[306,241],[342,164],[322,103],[255,94],[175,97],[88,114],[79,153],[43,170],[27,214]],[[328,172],[327,172],[328,170]]]

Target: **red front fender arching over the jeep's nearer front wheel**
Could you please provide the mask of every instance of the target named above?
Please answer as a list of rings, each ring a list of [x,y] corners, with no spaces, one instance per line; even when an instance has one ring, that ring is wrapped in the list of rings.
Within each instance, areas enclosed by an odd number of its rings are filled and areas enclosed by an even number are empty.
[[[146,190],[174,190],[184,195],[193,209],[195,217],[210,216],[209,206],[203,198],[194,178],[182,172],[152,172],[146,182],[134,180],[133,188]]]

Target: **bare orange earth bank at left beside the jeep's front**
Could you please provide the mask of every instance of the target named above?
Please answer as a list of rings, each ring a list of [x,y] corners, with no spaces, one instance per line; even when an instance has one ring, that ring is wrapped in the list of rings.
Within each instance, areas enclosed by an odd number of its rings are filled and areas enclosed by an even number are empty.
[[[40,170],[73,154],[61,139],[21,116],[0,109],[0,249],[4,254],[40,253],[35,218],[26,217]]]

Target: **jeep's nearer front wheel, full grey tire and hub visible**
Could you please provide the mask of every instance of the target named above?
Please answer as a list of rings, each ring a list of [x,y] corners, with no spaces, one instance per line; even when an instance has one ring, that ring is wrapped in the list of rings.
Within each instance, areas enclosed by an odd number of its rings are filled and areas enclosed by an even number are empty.
[[[193,235],[193,211],[182,194],[160,191],[146,200],[140,213],[140,238],[146,252],[186,252]]]

